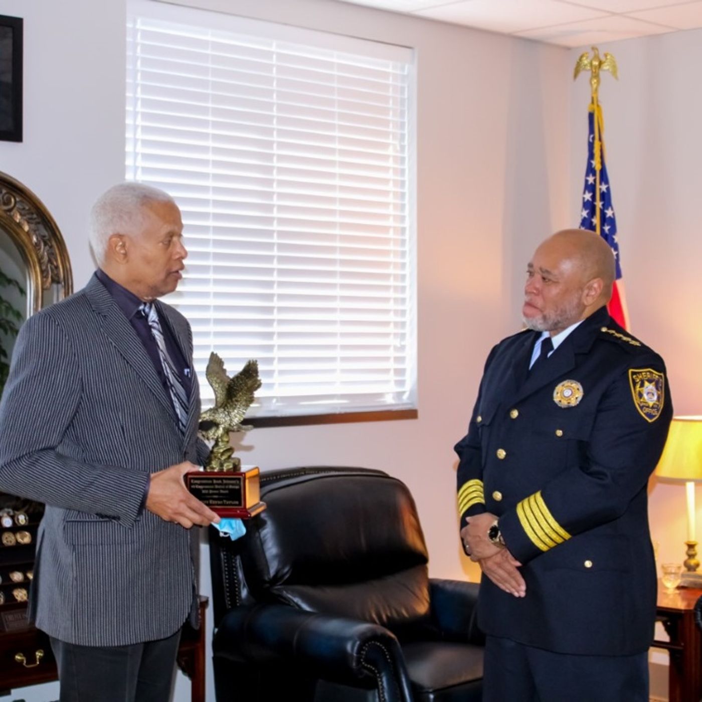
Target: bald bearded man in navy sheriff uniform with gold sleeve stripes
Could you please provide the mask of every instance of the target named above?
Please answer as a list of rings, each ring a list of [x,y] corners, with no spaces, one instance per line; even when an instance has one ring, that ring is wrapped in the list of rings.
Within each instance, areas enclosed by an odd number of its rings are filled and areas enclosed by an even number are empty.
[[[487,635],[484,702],[648,702],[647,482],[673,415],[663,359],[612,321],[594,232],[536,249],[528,329],[498,343],[456,444]]]

